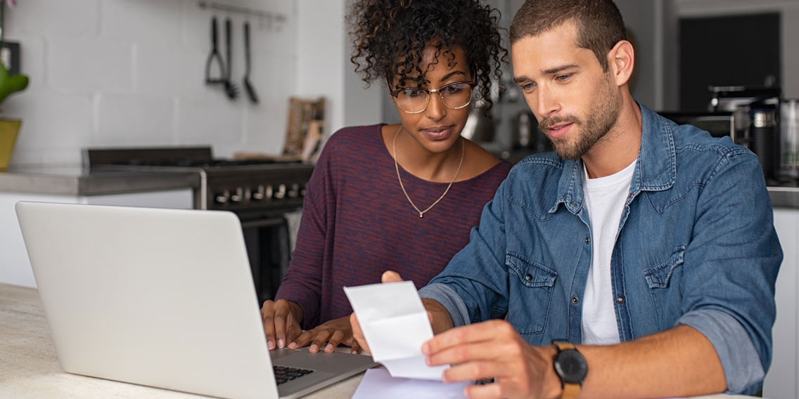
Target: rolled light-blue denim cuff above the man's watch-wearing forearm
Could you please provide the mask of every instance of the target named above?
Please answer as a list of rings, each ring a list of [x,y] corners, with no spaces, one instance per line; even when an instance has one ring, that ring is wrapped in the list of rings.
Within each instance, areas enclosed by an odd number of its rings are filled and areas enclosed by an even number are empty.
[[[677,324],[694,327],[713,344],[728,393],[756,393],[765,371],[749,334],[735,318],[721,310],[703,309],[683,314]]]

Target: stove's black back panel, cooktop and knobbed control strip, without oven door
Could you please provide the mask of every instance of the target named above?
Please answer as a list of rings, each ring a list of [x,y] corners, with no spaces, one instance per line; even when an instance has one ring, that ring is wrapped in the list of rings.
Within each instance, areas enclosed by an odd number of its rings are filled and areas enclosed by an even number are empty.
[[[89,148],[89,170],[197,172],[194,207],[225,211],[281,211],[302,206],[313,166],[284,160],[213,159],[210,147]]]

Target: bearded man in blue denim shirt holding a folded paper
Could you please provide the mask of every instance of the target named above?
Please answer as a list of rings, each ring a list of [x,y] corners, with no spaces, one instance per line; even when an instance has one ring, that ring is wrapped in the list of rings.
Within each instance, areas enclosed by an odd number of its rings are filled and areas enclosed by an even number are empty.
[[[757,392],[782,259],[757,158],[634,101],[610,0],[528,0],[511,57],[555,154],[513,168],[419,291],[428,364],[494,378],[470,397]]]

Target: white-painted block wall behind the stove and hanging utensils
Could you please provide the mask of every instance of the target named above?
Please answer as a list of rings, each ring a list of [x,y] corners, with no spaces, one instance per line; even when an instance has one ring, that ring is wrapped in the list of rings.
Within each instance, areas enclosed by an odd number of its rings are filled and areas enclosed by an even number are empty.
[[[81,148],[210,144],[215,156],[283,148],[288,97],[296,93],[296,6],[288,0],[217,0],[283,14],[280,24],[203,10],[197,0],[21,0],[6,10],[6,40],[22,46],[29,88],[2,104],[20,118],[12,164],[78,164]],[[233,81],[205,85],[210,19],[233,21]],[[243,22],[250,22],[260,104],[244,97]]]

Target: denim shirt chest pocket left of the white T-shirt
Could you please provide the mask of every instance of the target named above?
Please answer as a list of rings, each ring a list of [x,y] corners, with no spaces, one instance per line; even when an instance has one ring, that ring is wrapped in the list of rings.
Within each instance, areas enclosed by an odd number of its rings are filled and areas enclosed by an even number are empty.
[[[507,252],[511,300],[508,321],[519,334],[541,334],[547,327],[552,291],[558,273],[524,255]],[[512,271],[512,273],[510,272]]]

